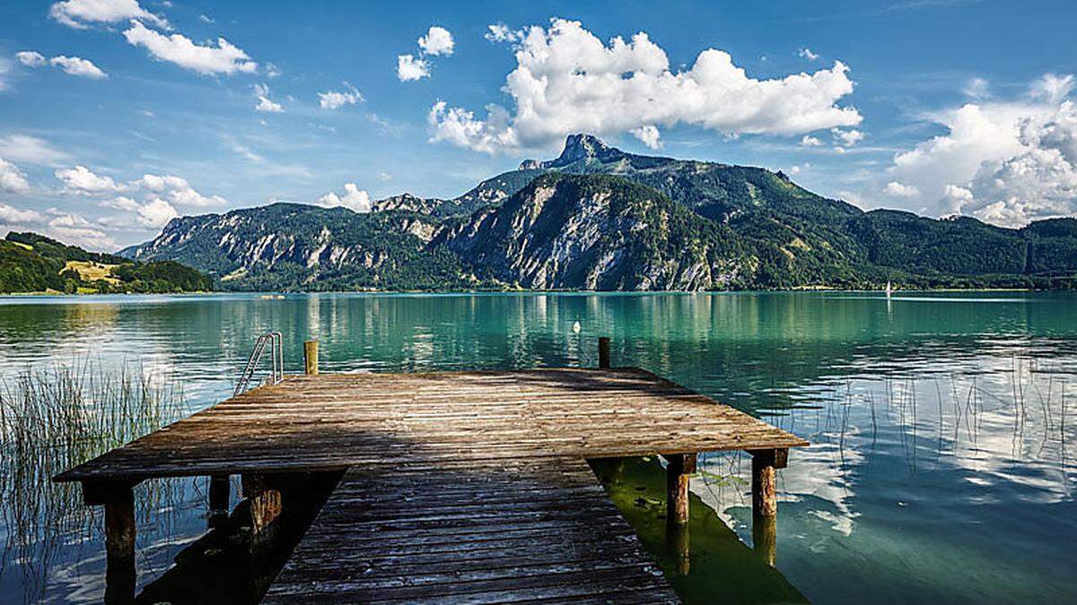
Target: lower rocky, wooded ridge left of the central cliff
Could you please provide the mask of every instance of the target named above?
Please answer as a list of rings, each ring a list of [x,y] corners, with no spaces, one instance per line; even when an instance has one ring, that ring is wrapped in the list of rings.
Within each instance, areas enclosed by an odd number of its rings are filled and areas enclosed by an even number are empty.
[[[230,290],[482,285],[452,252],[428,250],[440,222],[430,212],[411,210],[426,208],[426,200],[400,196],[388,203],[402,209],[359,214],[346,208],[272,203],[184,216],[169,222],[154,240],[120,254],[180,259]]]

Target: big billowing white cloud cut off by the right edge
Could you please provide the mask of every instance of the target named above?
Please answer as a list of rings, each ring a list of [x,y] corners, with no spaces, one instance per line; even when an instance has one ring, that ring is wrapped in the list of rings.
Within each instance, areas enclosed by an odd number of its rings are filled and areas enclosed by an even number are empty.
[[[887,177],[914,186],[932,214],[1007,226],[1077,213],[1077,108],[1073,76],[1048,74],[1009,101],[933,115],[947,131],[899,153]]]

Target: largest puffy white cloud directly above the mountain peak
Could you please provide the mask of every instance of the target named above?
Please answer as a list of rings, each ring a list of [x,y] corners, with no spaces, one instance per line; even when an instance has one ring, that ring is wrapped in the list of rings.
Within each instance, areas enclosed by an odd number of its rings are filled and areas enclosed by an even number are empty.
[[[837,104],[853,89],[841,62],[811,74],[756,80],[728,53],[710,48],[690,69],[674,72],[645,32],[605,44],[565,19],[553,19],[548,29],[532,26],[515,51],[517,67],[504,87],[514,113],[491,105],[478,119],[439,101],[430,112],[432,141],[494,153],[551,146],[581,131],[602,136],[690,124],[726,135],[800,135],[862,119],[855,109]]]

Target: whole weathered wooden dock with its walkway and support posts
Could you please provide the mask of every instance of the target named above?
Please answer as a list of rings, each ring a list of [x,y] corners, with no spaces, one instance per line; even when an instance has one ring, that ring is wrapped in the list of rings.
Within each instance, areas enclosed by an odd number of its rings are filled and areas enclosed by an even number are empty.
[[[772,529],[774,469],[806,445],[638,368],[311,374],[235,396],[56,480],[82,482],[87,504],[106,506],[108,601],[134,596],[139,481],[215,478],[219,508],[224,478],[240,475],[257,533],[304,476],[342,473],[266,601],[666,603],[676,596],[586,460],[663,455],[675,526],[687,521],[695,454],[746,450],[753,509]]]

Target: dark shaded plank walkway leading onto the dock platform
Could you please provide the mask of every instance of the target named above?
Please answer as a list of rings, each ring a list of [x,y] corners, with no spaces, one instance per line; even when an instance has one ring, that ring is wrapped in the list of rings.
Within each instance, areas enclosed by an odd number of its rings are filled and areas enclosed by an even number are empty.
[[[582,460],[421,470],[381,466],[346,474],[267,602],[481,603],[603,594],[675,602]],[[443,490],[461,484],[477,491]]]

